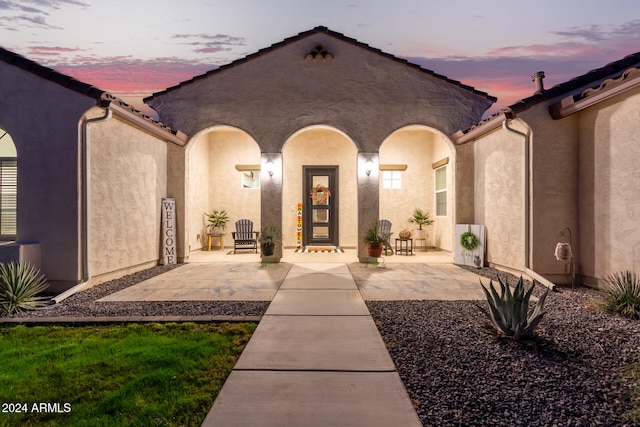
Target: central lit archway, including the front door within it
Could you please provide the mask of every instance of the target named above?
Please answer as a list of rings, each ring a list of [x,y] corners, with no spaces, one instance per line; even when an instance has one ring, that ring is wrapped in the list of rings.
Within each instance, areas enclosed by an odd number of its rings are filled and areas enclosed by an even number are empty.
[[[357,155],[353,140],[330,126],[306,127],[289,137],[282,149],[284,248],[295,247],[298,243],[357,247]],[[330,173],[334,174],[333,178],[328,178],[331,182],[325,182],[323,177]],[[320,204],[311,199],[310,188],[316,184],[328,187],[332,194]],[[306,232],[302,242],[297,239],[299,203],[305,207],[303,228]],[[330,213],[315,210],[319,205],[332,210]]]

